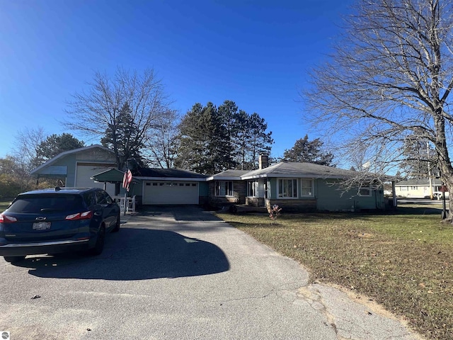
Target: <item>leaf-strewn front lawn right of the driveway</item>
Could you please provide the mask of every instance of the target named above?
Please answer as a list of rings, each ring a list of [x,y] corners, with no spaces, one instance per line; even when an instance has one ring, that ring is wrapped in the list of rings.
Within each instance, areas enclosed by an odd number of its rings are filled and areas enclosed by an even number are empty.
[[[453,226],[439,205],[394,215],[311,213],[218,216],[336,283],[403,316],[431,339],[453,339]],[[282,212],[285,212],[283,207]]]

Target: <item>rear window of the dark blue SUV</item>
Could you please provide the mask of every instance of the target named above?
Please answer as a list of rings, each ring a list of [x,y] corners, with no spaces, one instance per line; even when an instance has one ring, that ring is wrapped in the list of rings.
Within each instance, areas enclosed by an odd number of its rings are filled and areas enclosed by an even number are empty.
[[[39,213],[59,210],[83,209],[82,198],[79,195],[27,195],[18,197],[8,208],[8,212]]]

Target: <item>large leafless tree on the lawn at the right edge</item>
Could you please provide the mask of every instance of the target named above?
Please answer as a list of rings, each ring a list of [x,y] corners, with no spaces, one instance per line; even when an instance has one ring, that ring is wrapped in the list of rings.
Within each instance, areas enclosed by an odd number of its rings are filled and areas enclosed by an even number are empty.
[[[313,86],[302,95],[313,122],[339,135],[343,151],[365,155],[369,171],[383,174],[403,161],[404,141],[417,135],[435,149],[432,165],[453,188],[452,7],[440,0],[358,1],[331,59],[312,72]]]

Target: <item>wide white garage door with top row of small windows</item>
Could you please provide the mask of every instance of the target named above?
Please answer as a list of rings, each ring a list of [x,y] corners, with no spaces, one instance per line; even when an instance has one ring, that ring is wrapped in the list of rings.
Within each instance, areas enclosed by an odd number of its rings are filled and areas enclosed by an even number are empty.
[[[198,183],[144,182],[143,204],[198,204]]]

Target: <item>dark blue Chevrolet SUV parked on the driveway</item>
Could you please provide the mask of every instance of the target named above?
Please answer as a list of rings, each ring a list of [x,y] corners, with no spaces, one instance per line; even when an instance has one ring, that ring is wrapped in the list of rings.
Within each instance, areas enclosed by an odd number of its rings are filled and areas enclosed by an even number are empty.
[[[101,188],[51,188],[19,194],[0,214],[0,256],[88,250],[101,254],[105,234],[120,230],[120,207]]]

